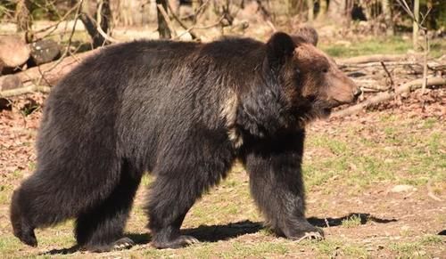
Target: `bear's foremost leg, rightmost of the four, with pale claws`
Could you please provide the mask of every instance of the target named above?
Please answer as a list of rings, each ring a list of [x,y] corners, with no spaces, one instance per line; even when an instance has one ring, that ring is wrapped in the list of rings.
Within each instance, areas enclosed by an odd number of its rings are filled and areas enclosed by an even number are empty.
[[[305,218],[303,141],[301,131],[249,142],[244,162],[252,196],[269,227],[288,239],[323,239],[323,231]]]

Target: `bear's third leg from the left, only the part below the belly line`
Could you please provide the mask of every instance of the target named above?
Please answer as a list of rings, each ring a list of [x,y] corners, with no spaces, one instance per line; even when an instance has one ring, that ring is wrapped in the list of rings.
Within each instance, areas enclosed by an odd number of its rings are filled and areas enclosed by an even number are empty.
[[[153,247],[178,248],[198,242],[194,237],[180,234],[181,224],[195,200],[201,197],[202,191],[219,182],[228,169],[226,166],[216,166],[215,170],[206,170],[200,166],[194,167],[194,170],[187,170],[187,166],[178,167],[184,171],[178,174],[158,174],[153,182],[147,206]]]

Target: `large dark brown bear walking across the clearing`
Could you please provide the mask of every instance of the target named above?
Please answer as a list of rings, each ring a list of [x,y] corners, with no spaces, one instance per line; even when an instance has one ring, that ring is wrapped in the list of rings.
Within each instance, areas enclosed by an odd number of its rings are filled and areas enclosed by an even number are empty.
[[[131,247],[125,224],[150,172],[152,245],[185,247],[198,241],[180,232],[186,213],[241,161],[271,230],[322,239],[305,218],[305,125],[360,91],[309,33],[142,40],[82,61],[45,101],[35,172],[12,195],[14,235],[37,247],[36,228],[71,218],[81,249]]]

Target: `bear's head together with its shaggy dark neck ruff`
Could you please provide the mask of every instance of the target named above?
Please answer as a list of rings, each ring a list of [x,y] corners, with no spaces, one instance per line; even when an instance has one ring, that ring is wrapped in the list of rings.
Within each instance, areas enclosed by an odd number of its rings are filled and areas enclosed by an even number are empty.
[[[255,64],[254,77],[239,91],[236,121],[228,119],[231,125],[254,136],[274,135],[302,128],[314,118],[327,117],[336,106],[355,101],[358,86],[316,48],[317,43],[314,28],[301,28],[294,36],[271,36],[256,59],[261,63]]]

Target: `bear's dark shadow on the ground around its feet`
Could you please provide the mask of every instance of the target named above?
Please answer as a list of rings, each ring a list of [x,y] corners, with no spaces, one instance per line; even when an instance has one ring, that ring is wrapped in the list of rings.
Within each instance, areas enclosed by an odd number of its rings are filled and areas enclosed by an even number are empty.
[[[364,213],[351,213],[338,218],[310,217],[308,218],[308,221],[311,224],[318,226],[319,228],[326,228],[339,226],[343,223],[343,221],[353,218],[359,218],[361,224],[365,224],[367,222],[392,223],[397,221],[396,219],[381,219]],[[256,233],[263,229],[264,226],[262,225],[262,223],[243,221],[238,223],[228,223],[226,225],[201,225],[194,229],[181,230],[181,233],[184,235],[193,236],[201,242],[217,242],[220,240],[235,239],[239,236]],[[149,233],[128,233],[127,236],[128,238],[134,240],[138,245],[148,244],[151,241],[151,236]],[[42,253],[41,255],[72,254],[77,252],[78,248],[78,246],[74,246],[70,248],[53,249],[48,252]]]

